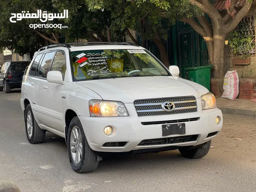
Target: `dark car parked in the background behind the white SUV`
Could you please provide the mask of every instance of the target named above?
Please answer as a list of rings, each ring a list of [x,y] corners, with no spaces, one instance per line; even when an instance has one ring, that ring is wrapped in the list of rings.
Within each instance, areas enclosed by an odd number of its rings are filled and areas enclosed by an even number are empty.
[[[8,61],[0,70],[0,91],[10,93],[11,89],[21,88],[22,76],[30,61]]]

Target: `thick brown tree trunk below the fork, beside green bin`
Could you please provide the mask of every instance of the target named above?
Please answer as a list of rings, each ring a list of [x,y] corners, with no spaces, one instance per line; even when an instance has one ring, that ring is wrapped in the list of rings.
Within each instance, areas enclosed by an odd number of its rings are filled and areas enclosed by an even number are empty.
[[[214,35],[214,51],[213,51],[213,65],[214,65],[214,78],[224,78],[224,35]]]

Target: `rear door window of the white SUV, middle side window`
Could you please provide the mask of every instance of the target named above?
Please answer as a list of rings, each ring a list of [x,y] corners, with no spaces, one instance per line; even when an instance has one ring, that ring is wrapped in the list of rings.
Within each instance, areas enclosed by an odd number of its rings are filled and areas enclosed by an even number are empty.
[[[44,58],[41,62],[40,68],[38,68],[39,70],[37,74],[38,77],[43,77],[43,78],[47,77],[47,73],[50,69],[50,65],[51,65],[54,54],[55,52],[49,52],[44,54]]]

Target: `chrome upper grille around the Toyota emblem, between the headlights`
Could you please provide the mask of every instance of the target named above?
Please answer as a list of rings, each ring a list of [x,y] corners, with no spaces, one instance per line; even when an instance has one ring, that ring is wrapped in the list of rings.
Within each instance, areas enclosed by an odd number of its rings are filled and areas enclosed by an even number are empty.
[[[175,105],[174,110],[166,111],[162,108],[162,103],[166,101]],[[139,117],[197,112],[194,96],[135,100],[134,106]]]

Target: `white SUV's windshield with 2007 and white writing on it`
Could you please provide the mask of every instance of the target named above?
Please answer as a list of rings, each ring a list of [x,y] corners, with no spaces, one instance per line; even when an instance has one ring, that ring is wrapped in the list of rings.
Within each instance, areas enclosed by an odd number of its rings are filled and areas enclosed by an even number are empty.
[[[133,76],[170,76],[167,70],[144,50],[86,50],[71,52],[77,81]]]

